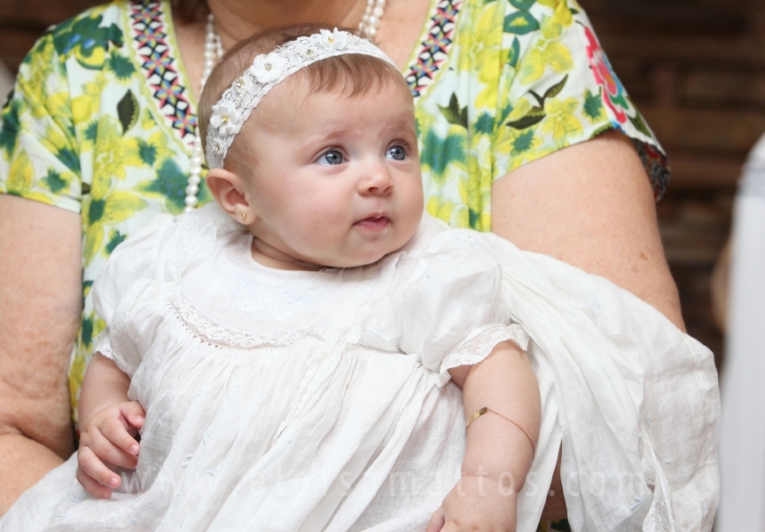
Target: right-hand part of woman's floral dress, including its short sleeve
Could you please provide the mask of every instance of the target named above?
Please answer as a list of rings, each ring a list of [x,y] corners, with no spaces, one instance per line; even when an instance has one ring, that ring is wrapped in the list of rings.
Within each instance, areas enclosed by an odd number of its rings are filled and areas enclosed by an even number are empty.
[[[660,196],[667,158],[575,0],[439,2],[431,24],[448,31],[417,56],[427,79],[407,78],[431,214],[490,231],[496,180],[611,129],[633,141]]]

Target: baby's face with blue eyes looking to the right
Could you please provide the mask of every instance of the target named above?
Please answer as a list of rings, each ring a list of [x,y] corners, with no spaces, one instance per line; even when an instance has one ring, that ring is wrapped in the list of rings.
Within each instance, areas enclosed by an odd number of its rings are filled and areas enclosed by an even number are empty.
[[[288,259],[376,262],[406,244],[422,217],[412,100],[393,82],[355,97],[307,92],[277,86],[241,139],[254,166],[250,230]]]

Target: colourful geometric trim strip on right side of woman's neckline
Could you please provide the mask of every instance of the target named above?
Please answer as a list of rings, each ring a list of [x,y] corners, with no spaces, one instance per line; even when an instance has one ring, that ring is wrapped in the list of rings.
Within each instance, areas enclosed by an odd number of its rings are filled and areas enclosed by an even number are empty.
[[[413,54],[410,67],[404,74],[414,98],[422,96],[433,85],[436,74],[449,59],[457,15],[461,9],[462,0],[439,0],[436,4],[419,49]]]

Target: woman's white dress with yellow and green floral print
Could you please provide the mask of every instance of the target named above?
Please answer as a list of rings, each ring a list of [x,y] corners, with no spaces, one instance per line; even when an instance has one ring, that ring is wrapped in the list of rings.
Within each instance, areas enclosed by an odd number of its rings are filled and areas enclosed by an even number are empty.
[[[0,192],[82,215],[75,416],[104,328],[93,280],[131,232],[183,211],[196,102],[177,58],[168,4],[118,0],[43,35],[3,108]],[[426,207],[453,226],[489,231],[496,179],[608,129],[633,139],[657,197],[667,184],[660,146],[574,0],[433,0],[403,74]]]

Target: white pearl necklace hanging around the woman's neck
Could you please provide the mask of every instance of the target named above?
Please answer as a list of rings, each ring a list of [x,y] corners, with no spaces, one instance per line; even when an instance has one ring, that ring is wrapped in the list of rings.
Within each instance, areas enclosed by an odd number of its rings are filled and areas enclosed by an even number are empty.
[[[374,38],[385,14],[386,0],[367,0],[367,7],[364,11],[361,22],[359,22],[359,33],[368,39]],[[215,31],[215,17],[213,13],[207,15],[207,30],[205,34],[205,62],[202,66],[202,79],[199,82],[199,92],[205,88],[205,82],[210,77],[210,73],[215,68],[215,63],[223,56],[223,47],[221,37]],[[194,133],[194,145],[191,146],[191,168],[189,172],[189,181],[186,185],[186,204],[185,211],[190,212],[199,203],[197,194],[199,193],[199,183],[202,181],[202,139],[199,137],[199,122],[197,130]]]

